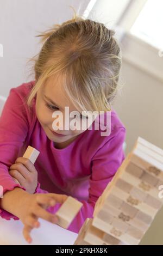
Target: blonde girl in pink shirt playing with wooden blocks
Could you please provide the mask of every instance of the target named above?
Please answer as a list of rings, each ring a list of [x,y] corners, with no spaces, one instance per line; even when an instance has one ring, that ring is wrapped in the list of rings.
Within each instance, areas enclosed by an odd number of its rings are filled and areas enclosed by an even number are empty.
[[[68,228],[78,233],[124,160],[126,136],[111,108],[121,68],[114,31],[75,15],[37,36],[44,44],[33,58],[35,80],[10,89],[0,119],[0,215],[20,219],[28,242],[39,217],[57,223],[54,214],[67,196],[83,203]],[[67,116],[65,107],[77,118]],[[87,111],[110,114],[108,135],[95,129],[99,120]],[[21,157],[28,145],[40,151],[35,166]]]

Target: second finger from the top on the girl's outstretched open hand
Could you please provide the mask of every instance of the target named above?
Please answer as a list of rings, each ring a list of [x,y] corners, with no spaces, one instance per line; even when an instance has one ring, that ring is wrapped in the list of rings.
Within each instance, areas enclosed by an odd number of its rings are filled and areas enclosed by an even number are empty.
[[[50,214],[49,212],[47,212],[45,209],[43,209],[40,205],[37,205],[33,211],[33,214],[36,217],[42,218],[43,220],[52,222],[54,224],[56,224],[58,222],[58,218],[57,216]]]

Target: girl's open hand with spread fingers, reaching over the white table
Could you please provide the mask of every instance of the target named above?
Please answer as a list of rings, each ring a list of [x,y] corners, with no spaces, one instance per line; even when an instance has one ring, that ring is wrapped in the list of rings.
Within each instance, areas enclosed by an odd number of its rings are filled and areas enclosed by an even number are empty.
[[[54,206],[56,203],[64,203],[68,196],[64,194],[26,194],[21,198],[19,203],[17,217],[24,224],[23,236],[28,243],[32,242],[30,231],[33,228],[39,228],[40,222],[38,218],[57,224],[57,216],[50,214],[47,209],[49,206]]]

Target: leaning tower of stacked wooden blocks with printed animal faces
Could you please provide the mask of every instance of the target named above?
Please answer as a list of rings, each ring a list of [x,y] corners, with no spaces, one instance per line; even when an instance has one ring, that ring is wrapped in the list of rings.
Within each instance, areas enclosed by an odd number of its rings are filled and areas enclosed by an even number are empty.
[[[138,245],[163,204],[163,150],[139,137],[74,245]]]

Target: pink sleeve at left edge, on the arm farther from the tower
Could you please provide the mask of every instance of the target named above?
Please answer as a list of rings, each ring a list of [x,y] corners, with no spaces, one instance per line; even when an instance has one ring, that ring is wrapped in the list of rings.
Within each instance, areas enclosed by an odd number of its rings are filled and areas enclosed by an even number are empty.
[[[9,168],[17,159],[29,129],[29,119],[23,103],[17,89],[10,89],[0,117],[0,185],[3,187],[3,194],[15,187],[26,190],[16,184],[9,174]],[[1,208],[0,216],[6,220],[18,220],[16,216]]]

